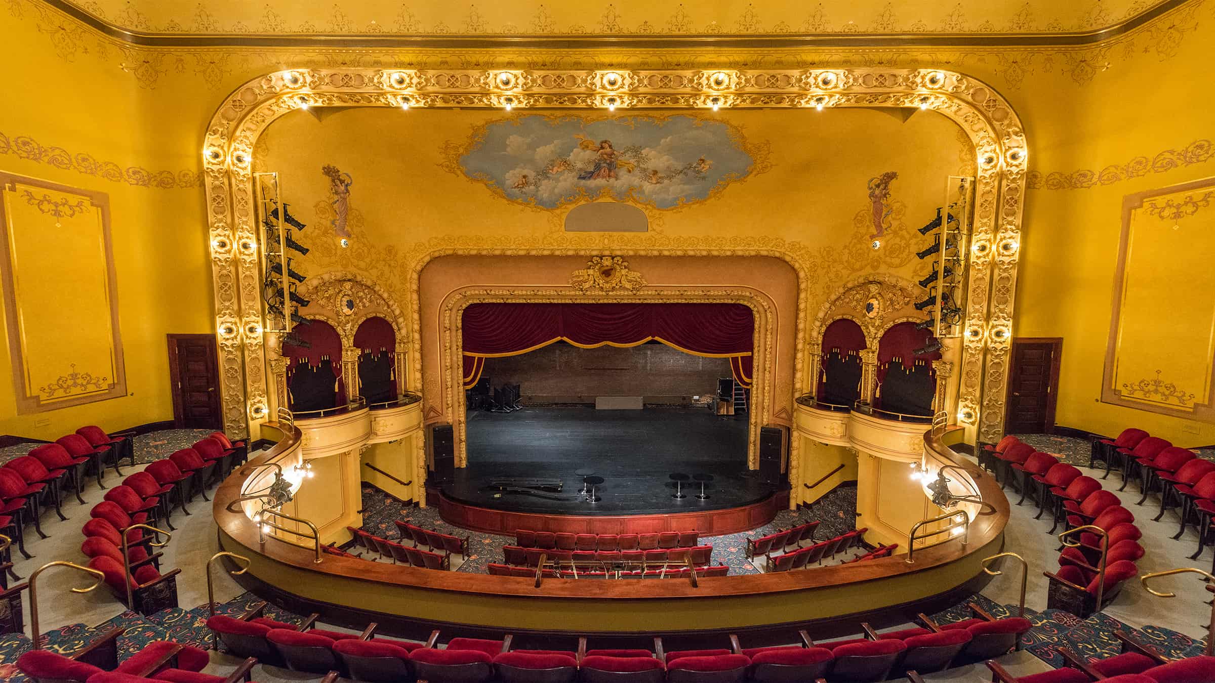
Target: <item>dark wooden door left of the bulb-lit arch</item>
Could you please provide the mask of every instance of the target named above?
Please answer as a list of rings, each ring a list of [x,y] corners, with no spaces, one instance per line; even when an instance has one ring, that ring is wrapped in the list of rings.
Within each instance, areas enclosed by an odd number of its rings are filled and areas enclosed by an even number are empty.
[[[220,376],[214,334],[169,334],[173,422],[177,429],[220,429]]]

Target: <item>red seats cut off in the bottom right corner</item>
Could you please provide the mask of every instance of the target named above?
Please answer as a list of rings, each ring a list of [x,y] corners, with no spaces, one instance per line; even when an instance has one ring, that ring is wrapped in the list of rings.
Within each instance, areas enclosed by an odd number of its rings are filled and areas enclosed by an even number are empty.
[[[1198,655],[1169,660],[1153,648],[1137,642],[1123,632],[1114,636],[1121,643],[1117,655],[1107,657],[1081,657],[1067,648],[1055,648],[1063,656],[1062,668],[1012,676],[1000,662],[989,661],[991,681],[996,683],[1215,683],[1215,657]]]

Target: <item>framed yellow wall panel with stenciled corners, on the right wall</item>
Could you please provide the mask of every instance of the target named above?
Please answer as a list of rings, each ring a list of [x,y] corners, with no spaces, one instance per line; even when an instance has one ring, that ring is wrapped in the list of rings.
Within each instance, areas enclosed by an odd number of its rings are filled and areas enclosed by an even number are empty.
[[[1215,422],[1215,179],[1130,194],[1102,400]]]

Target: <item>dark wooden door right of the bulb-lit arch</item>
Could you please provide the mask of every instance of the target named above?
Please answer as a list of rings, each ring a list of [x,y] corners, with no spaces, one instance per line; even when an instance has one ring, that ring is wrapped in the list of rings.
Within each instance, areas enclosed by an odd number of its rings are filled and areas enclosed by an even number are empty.
[[[1055,430],[1062,355],[1061,338],[1022,337],[1012,340],[1005,433],[1050,434]]]

